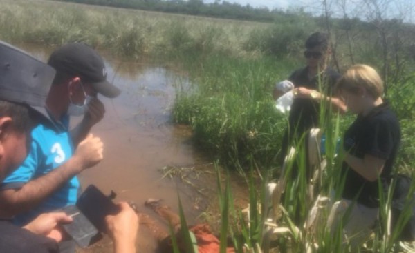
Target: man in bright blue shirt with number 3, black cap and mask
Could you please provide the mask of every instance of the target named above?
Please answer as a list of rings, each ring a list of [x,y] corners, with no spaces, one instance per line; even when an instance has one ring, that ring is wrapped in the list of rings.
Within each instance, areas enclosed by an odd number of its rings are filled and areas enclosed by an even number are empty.
[[[75,204],[80,187],[76,175],[102,159],[102,141],[88,135],[104,115],[97,94],[120,94],[106,80],[101,57],[84,43],[69,43],[55,50],[48,64],[57,70],[44,112],[50,121],[33,130],[28,157],[1,185],[1,213],[15,216],[17,225]],[[69,116],[82,114],[80,125],[69,131]]]

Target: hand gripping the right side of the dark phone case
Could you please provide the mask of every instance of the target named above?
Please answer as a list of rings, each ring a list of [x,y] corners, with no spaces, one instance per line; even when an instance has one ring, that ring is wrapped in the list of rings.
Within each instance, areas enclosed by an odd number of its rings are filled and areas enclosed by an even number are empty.
[[[128,203],[118,203],[120,212],[105,217],[107,233],[113,239],[114,252],[136,252],[138,216]]]

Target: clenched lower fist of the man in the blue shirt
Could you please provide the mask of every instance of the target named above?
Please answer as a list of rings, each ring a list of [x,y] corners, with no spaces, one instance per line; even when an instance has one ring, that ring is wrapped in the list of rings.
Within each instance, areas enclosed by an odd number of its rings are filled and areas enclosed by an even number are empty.
[[[79,163],[80,170],[91,168],[93,165],[99,163],[104,151],[104,143],[102,143],[99,137],[88,134],[84,141],[81,141],[75,150],[71,159],[74,159]]]

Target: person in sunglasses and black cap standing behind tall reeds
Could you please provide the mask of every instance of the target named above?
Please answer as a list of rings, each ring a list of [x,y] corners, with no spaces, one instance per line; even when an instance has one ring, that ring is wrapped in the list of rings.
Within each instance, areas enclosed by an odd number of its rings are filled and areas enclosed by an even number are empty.
[[[322,32],[315,32],[306,40],[305,48],[306,66],[295,70],[288,78],[288,83],[292,83],[292,85],[277,84],[273,92],[274,99],[278,99],[284,92],[290,90],[291,86],[292,89],[290,91],[294,94],[294,101],[288,116],[288,126],[285,130],[282,148],[279,153],[279,162],[283,167],[288,150],[291,147],[301,150],[299,148],[300,145],[304,145],[305,148],[310,130],[320,127],[320,105],[322,103],[331,105],[333,111],[346,112],[347,110],[343,101],[332,96],[335,82],[341,76],[327,64],[331,54],[329,36]],[[306,158],[308,157],[308,150],[304,150],[305,152],[301,154],[304,154],[304,158]],[[304,159],[304,161],[306,161],[306,179],[309,181],[313,171],[309,169],[308,159]],[[288,174],[288,179],[295,180],[298,176],[299,165],[294,163],[291,173]],[[305,210],[299,207],[299,205],[304,203],[301,199],[302,196],[291,196],[290,199],[287,199],[286,196],[286,193],[282,195],[282,203],[286,205],[286,208],[289,205],[297,206],[295,208],[295,216],[292,218],[297,225],[302,224],[306,216],[305,212],[300,213],[300,210]]]

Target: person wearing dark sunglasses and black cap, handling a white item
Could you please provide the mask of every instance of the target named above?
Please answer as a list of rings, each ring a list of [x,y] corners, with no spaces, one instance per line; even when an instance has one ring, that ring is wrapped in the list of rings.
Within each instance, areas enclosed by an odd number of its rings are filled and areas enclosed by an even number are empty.
[[[320,103],[329,101],[333,108],[346,112],[343,101],[332,97],[335,82],[340,74],[330,68],[327,63],[331,54],[329,36],[322,32],[315,32],[308,37],[305,43],[304,57],[306,67],[295,70],[288,81],[293,83],[294,101],[288,116],[288,128],[284,134],[281,148],[281,163],[293,141],[299,141],[303,134],[311,128],[317,128],[320,117]],[[285,91],[285,90],[284,90]],[[276,86],[273,91],[274,99],[278,99],[284,92]]]

